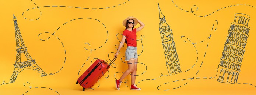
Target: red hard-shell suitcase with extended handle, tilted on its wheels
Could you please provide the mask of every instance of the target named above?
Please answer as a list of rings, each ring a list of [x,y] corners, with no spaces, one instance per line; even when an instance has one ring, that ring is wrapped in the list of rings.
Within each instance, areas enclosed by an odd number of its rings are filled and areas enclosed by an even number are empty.
[[[116,60],[116,57],[108,64],[104,60],[97,59],[78,79],[76,84],[85,88],[91,88],[108,71],[110,65]]]

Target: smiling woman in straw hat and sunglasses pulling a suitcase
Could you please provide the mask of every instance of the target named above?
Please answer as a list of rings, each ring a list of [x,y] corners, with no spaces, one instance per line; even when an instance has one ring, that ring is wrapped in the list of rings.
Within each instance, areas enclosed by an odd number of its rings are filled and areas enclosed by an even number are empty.
[[[134,26],[136,26],[136,24],[138,23],[140,24],[140,27],[133,29]],[[123,37],[119,44],[115,57],[118,55],[119,50],[123,46],[123,43],[126,42],[127,49],[125,52],[125,61],[127,61],[128,63],[128,69],[123,73],[119,80],[116,80],[116,89],[120,90],[119,87],[123,79],[125,79],[125,77],[131,73],[131,90],[141,90],[141,88],[138,88],[135,85],[138,63],[136,33],[140,31],[145,26],[145,24],[134,17],[128,17],[123,21],[123,26],[125,26],[126,28],[125,31],[123,31]]]

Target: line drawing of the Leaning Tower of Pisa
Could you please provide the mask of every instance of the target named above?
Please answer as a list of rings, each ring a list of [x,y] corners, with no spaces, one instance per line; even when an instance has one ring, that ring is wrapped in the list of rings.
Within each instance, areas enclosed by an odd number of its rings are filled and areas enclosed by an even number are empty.
[[[222,83],[237,83],[246,41],[250,27],[250,17],[246,14],[235,14],[235,20],[228,30],[227,40],[224,44],[220,64],[217,68],[217,81]],[[218,71],[220,71],[218,73]]]

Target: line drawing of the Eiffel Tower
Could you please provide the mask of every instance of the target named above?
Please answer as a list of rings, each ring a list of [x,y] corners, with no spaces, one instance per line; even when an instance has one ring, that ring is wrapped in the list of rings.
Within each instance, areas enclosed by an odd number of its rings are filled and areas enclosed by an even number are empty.
[[[20,29],[17,24],[17,19],[13,15],[14,27],[15,27],[15,34],[16,34],[16,47],[17,47],[17,56],[16,62],[14,65],[13,75],[11,76],[10,83],[14,82],[17,78],[18,73],[25,69],[33,69],[41,73],[41,76],[46,76],[47,74],[36,64],[35,60],[28,54],[27,47],[22,39]],[[22,57],[25,56],[25,57]],[[21,59],[27,58],[27,59]],[[25,61],[24,61],[25,60]]]

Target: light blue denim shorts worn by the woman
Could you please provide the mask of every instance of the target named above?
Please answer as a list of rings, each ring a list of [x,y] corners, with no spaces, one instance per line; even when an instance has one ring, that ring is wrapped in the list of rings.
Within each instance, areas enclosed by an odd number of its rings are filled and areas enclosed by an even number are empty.
[[[127,46],[125,51],[125,61],[129,61],[131,58],[135,60],[138,59],[137,47]]]

